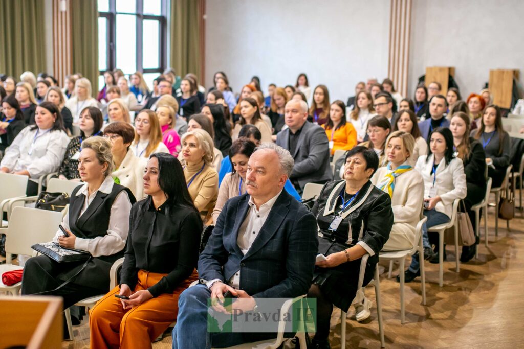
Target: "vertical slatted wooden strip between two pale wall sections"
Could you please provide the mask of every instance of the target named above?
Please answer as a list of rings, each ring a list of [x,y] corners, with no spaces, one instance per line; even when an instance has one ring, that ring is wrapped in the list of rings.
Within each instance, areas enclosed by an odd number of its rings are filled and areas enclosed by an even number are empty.
[[[411,0],[391,0],[388,77],[402,96],[408,93],[410,31]]]

